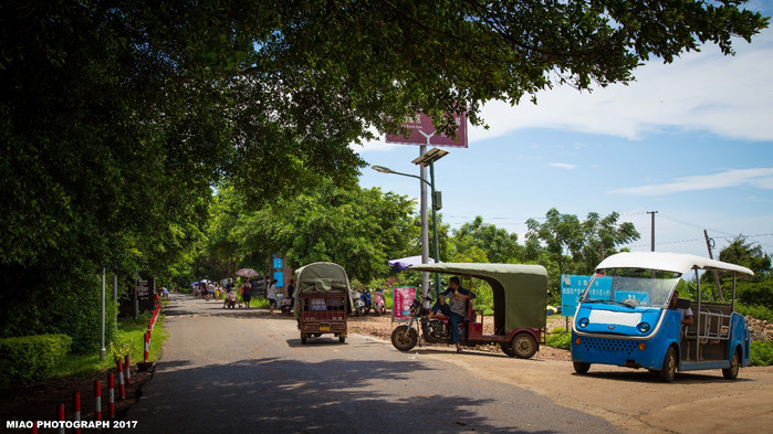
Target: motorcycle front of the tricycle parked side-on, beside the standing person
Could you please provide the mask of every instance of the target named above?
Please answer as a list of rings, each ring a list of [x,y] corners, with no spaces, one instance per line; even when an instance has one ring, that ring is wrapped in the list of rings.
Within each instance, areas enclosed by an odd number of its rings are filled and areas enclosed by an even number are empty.
[[[431,297],[426,297],[424,300],[432,303]],[[418,297],[414,299],[410,305],[410,321],[407,325],[397,326],[391,332],[391,345],[400,351],[410,351],[418,343],[417,328],[420,328],[421,338],[427,343],[451,343],[451,325],[448,317],[439,311],[432,316],[432,319],[427,319],[431,310],[424,307],[421,301]],[[467,320],[459,324],[459,341],[463,346],[469,345],[467,325]]]

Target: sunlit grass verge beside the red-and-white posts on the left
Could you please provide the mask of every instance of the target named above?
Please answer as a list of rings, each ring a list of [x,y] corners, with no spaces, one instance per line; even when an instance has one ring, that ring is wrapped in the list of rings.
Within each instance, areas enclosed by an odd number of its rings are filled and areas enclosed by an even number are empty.
[[[59,367],[53,369],[51,378],[85,378],[96,372],[106,371],[115,368],[114,354],[118,354],[123,360],[123,357],[128,353],[130,363],[143,361],[145,352],[144,336],[147,331],[148,321],[149,315],[142,315],[136,320],[134,318],[118,319],[118,332],[115,341],[106,346],[105,361],[100,361],[100,350],[95,350],[91,354],[69,354]],[[153,329],[148,361],[158,359],[166,338],[167,331],[164,328],[164,316],[161,315]]]

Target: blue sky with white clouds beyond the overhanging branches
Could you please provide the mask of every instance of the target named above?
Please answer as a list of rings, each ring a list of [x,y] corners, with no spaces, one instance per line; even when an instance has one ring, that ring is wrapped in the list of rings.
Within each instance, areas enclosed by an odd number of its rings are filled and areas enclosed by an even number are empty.
[[[773,13],[763,1],[749,7]],[[487,104],[490,128],[472,127],[469,148],[446,148],[436,162],[443,222],[457,229],[482,215],[523,241],[525,221],[551,208],[581,219],[616,211],[641,234],[628,247],[649,251],[647,211],[658,211],[657,251],[706,256],[706,229],[714,255],[739,234],[773,253],[773,31],[735,51],[707,45],[672,64],[650,61],[628,86]],[[354,148],[370,165],[419,173],[418,146]],[[369,168],[361,186],[419,195],[419,181]]]

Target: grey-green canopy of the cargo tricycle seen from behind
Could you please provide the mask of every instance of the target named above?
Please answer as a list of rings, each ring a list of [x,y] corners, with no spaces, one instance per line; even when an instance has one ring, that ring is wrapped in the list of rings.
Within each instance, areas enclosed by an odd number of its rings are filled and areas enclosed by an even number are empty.
[[[352,287],[346,271],[332,262],[315,262],[295,271],[295,317],[300,308],[300,295],[304,293],[345,293],[348,298],[347,310],[352,311]]]

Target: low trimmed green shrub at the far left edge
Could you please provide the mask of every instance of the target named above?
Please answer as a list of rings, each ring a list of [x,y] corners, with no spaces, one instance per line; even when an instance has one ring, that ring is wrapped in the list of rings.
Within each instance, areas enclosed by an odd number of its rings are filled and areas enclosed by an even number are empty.
[[[0,383],[46,378],[70,351],[66,335],[38,335],[0,339]]]

